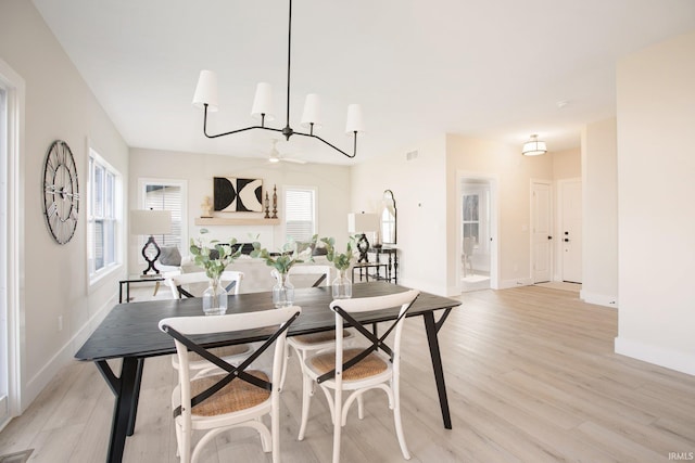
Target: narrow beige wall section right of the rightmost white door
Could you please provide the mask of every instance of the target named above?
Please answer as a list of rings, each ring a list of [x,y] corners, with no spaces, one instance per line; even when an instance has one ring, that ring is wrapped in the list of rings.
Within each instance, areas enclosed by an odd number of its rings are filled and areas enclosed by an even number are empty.
[[[615,118],[582,130],[581,298],[618,306],[618,160]]]

